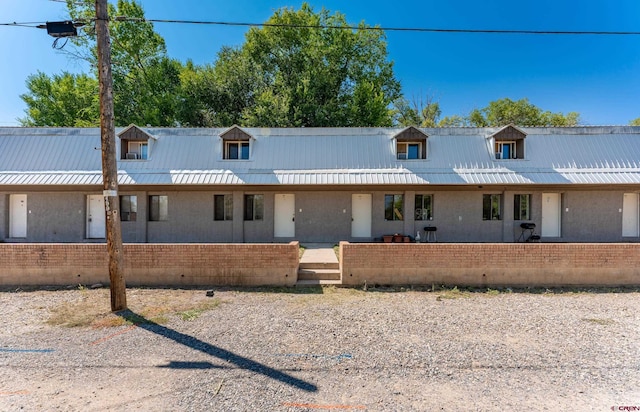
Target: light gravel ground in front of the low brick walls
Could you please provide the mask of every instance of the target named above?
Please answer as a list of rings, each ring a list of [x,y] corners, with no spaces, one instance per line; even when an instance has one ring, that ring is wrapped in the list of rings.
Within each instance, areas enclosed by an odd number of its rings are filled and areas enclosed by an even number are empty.
[[[640,408],[635,291],[305,291],[111,328],[46,323],[77,290],[0,292],[0,410]]]

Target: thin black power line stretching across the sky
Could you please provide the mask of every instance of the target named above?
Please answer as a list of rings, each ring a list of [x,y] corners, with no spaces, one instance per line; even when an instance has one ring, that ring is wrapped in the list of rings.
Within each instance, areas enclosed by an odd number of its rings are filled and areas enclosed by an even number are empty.
[[[529,34],[529,35],[592,35],[592,36],[638,36],[640,31],[598,31],[598,30],[501,30],[501,29],[443,29],[435,27],[383,27],[383,26],[332,26],[309,24],[278,24],[278,23],[248,23],[228,21],[202,21],[202,20],[171,20],[171,19],[142,19],[134,17],[117,16],[116,21],[149,22],[169,24],[199,24],[216,26],[237,27],[277,27],[298,29],[328,29],[328,30],[371,30],[385,32],[418,32],[418,33],[467,33],[467,34]],[[0,23],[0,26],[19,26],[38,28],[44,22]]]

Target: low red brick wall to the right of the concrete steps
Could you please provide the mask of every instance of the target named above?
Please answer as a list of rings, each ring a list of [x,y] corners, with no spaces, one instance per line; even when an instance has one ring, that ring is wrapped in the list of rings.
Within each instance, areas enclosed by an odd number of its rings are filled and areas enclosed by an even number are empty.
[[[340,244],[344,285],[640,285],[638,243]]]

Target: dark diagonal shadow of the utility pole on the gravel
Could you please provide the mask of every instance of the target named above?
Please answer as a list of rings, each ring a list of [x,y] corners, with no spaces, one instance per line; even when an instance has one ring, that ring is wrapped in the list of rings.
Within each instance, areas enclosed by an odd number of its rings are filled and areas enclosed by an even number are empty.
[[[307,391],[307,392],[318,391],[318,387],[312,383],[305,382],[302,379],[298,379],[284,372],[281,372],[277,369],[273,369],[269,366],[258,363],[254,360],[245,358],[240,355],[236,355],[233,352],[230,352],[226,349],[219,348],[210,343],[201,341],[200,339],[194,338],[193,336],[189,336],[184,333],[175,331],[173,329],[169,329],[166,326],[158,325],[157,323],[149,319],[146,319],[144,316],[141,316],[135,312],[132,312],[131,310],[127,309],[127,310],[117,312],[117,315],[129,321],[133,320],[136,326],[138,326],[140,329],[144,329],[151,333],[155,333],[156,335],[160,335],[167,339],[171,339],[172,341],[179,343],[181,345],[187,346],[191,349],[199,350],[200,352],[204,352],[207,355],[211,355],[218,359],[232,363],[241,369],[246,369],[255,373],[259,373],[261,375],[267,376],[271,379],[275,379],[287,385],[291,385],[298,389],[302,389],[303,391]],[[194,366],[196,366],[195,369],[199,369],[204,366],[204,363],[207,363],[207,362],[198,362],[198,365],[194,365],[193,362],[172,362],[168,366],[163,366],[163,367],[175,367],[175,368],[184,369],[184,368],[194,368]],[[197,366],[199,366],[199,368]]]

